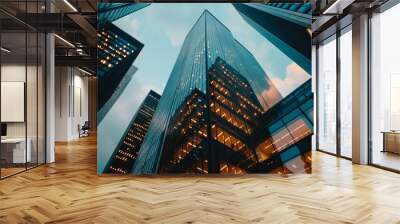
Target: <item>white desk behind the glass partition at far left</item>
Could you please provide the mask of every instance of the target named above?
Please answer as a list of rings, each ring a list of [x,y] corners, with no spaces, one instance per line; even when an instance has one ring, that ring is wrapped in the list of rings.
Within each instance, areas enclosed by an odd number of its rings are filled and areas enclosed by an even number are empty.
[[[28,143],[25,152],[25,138],[6,138],[1,139],[1,157],[6,163],[26,163],[31,162],[32,153],[30,138],[26,140]]]

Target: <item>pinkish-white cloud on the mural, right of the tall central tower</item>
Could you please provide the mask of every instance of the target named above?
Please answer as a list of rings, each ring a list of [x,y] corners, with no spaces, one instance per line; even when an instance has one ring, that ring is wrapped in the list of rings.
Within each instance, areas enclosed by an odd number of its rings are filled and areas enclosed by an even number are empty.
[[[291,63],[286,67],[285,78],[282,79],[274,75],[271,75],[270,77],[272,77],[272,82],[278,88],[283,97],[311,78],[307,72],[295,63]]]

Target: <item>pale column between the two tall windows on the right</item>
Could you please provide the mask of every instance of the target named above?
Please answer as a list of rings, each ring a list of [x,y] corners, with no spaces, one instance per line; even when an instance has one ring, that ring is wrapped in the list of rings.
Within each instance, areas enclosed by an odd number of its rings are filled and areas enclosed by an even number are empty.
[[[368,15],[353,19],[353,162],[368,163]]]

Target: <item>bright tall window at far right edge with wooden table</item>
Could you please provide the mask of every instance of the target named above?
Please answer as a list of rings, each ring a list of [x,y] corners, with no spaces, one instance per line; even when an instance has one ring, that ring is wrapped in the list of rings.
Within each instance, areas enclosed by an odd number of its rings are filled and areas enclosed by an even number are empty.
[[[400,4],[371,18],[371,162],[400,170]]]

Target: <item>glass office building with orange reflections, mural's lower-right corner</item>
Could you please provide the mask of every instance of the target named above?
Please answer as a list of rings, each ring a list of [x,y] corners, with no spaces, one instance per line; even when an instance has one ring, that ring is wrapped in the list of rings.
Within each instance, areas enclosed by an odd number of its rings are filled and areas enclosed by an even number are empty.
[[[258,164],[250,172],[311,172],[311,88],[308,80],[262,114],[251,138]]]

